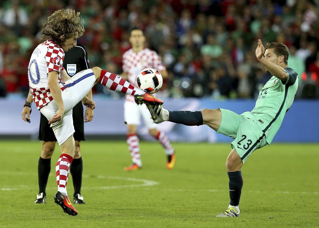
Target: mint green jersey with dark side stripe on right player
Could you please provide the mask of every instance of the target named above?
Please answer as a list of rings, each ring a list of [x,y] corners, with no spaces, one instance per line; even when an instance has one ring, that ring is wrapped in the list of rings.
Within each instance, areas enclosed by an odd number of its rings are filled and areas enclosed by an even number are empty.
[[[285,70],[288,73],[287,81],[272,76],[259,91],[254,109],[241,114],[258,123],[268,144],[276,135],[298,89],[298,74],[288,67]]]

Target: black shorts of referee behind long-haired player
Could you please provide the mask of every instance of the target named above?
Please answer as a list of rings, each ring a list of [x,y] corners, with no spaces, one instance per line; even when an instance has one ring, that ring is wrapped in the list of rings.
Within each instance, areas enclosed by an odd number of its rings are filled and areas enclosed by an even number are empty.
[[[80,101],[76,106],[73,107],[73,125],[74,125],[74,140],[82,141],[84,138],[84,114],[83,105]],[[48,123],[48,119],[41,113],[40,117],[40,128],[39,128],[39,140],[45,142],[56,141],[56,136],[52,128]]]

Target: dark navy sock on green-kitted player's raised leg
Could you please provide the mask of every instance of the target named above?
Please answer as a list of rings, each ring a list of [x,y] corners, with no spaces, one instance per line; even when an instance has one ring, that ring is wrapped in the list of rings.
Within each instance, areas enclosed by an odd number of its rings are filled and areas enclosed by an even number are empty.
[[[174,123],[181,123],[187,126],[203,125],[203,115],[200,111],[168,111],[169,120]]]

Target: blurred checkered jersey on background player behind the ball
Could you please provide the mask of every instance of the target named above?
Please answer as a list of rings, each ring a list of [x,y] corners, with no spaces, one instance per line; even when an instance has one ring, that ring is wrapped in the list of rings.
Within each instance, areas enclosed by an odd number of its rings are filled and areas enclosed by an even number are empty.
[[[158,54],[151,49],[144,48],[143,50],[135,53],[133,49],[129,49],[123,54],[123,72],[127,72],[128,81],[137,86],[136,78],[138,73],[145,68],[154,68],[160,71],[166,70],[166,67],[162,64]],[[126,94],[126,100],[134,102],[132,95]]]

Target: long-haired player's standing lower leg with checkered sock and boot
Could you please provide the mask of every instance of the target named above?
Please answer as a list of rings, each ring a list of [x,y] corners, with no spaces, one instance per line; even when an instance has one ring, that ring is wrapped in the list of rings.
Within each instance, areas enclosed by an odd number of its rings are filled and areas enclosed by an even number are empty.
[[[60,205],[63,211],[69,215],[77,215],[68,197],[66,185],[68,183],[70,165],[75,154],[75,142],[73,135],[60,145],[61,156],[56,163],[56,182],[58,184],[58,191],[54,196],[54,202]]]

